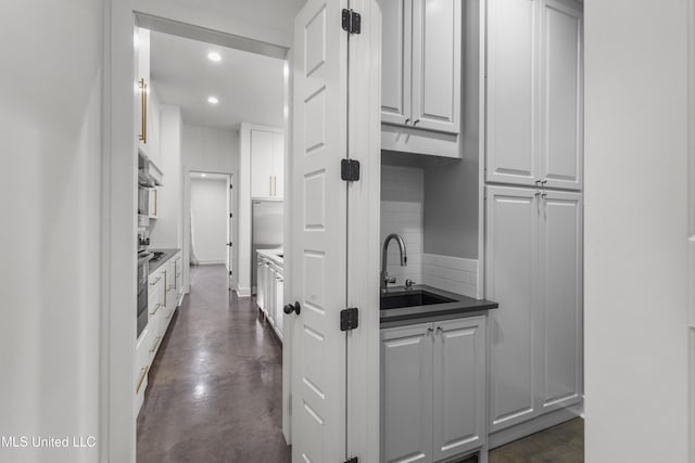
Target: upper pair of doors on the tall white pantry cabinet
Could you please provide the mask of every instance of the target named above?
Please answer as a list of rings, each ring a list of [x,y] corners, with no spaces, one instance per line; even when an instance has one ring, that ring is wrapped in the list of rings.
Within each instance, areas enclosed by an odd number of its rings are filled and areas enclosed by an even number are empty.
[[[571,0],[489,2],[486,181],[581,189],[581,43]]]

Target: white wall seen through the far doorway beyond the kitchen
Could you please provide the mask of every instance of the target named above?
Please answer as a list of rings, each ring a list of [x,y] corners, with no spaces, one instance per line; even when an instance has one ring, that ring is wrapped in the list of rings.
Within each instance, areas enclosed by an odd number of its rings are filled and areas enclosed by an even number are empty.
[[[200,263],[227,259],[227,181],[191,179],[193,252]]]

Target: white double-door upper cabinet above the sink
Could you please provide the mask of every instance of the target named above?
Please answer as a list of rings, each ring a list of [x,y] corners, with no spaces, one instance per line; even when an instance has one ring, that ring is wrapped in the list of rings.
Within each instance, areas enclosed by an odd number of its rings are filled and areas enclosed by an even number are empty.
[[[460,131],[460,0],[383,4],[381,121]]]

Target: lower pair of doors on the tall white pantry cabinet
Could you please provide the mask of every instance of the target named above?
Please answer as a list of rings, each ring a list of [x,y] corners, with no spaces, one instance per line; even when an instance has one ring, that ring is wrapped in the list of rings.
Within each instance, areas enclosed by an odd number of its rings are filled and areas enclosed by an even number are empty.
[[[490,430],[581,401],[580,193],[486,188]]]

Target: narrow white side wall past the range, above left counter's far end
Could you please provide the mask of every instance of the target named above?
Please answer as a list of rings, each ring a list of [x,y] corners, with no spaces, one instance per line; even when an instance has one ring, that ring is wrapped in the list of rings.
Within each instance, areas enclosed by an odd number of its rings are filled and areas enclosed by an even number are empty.
[[[150,219],[152,248],[184,245],[184,185],[181,171],[181,110],[160,105],[160,147],[163,187],[160,187],[157,219]]]

